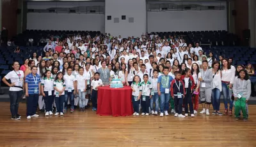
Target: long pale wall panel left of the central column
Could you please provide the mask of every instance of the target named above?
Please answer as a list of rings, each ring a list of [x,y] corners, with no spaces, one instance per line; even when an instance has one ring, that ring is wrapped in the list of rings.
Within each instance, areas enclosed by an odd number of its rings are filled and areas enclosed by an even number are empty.
[[[104,32],[104,14],[28,13],[27,29]]]

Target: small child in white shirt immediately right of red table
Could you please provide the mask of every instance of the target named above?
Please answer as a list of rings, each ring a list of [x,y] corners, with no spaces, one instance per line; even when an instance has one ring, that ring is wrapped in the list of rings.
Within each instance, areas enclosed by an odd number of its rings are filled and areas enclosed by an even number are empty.
[[[140,97],[141,97],[140,76],[137,76],[137,75],[134,76],[131,88],[132,88],[132,105],[133,105],[133,109],[134,109],[133,115],[139,116],[140,115],[139,102],[140,102]]]

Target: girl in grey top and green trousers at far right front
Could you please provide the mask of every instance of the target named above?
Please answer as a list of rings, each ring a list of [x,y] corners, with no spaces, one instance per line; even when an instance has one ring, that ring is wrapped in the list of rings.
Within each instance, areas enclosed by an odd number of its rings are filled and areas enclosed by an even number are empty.
[[[239,71],[239,75],[234,80],[233,92],[235,97],[235,116],[236,120],[239,120],[240,109],[243,112],[243,120],[246,122],[248,120],[248,115],[246,111],[246,104],[250,99],[251,95],[251,81],[245,69]]]

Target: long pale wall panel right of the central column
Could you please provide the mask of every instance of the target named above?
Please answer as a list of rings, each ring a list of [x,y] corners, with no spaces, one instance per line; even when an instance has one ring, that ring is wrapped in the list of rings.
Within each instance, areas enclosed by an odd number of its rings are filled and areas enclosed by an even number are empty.
[[[148,11],[148,32],[227,31],[227,10]]]

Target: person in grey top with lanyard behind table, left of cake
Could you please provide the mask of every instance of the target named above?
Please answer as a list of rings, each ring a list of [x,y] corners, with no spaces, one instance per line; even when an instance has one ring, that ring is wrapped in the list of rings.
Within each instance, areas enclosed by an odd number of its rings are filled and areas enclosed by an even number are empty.
[[[103,85],[109,85],[110,82],[110,71],[108,67],[106,67],[106,61],[101,62],[101,66],[98,70],[100,73],[100,79],[102,80]]]

